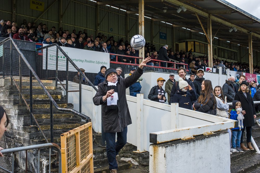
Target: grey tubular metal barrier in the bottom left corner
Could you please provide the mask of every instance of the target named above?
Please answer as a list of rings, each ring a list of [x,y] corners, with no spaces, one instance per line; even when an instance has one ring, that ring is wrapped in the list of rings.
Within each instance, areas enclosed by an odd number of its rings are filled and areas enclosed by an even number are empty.
[[[51,147],[55,147],[59,153],[59,173],[62,172],[62,162],[61,162],[61,149],[60,147],[55,144],[55,143],[46,143],[46,144],[38,144],[38,145],[31,145],[31,146],[23,146],[23,147],[16,147],[16,148],[8,148],[8,149],[3,149],[1,150],[2,154],[6,154],[6,153],[12,153],[12,172],[14,172],[14,152],[18,152],[18,151],[26,151],[26,167],[25,169],[27,170],[27,150],[33,150],[33,149],[38,149],[38,173],[40,173],[40,148],[47,148],[49,147],[51,150]],[[49,150],[49,152],[50,152]],[[50,172],[50,156],[49,155],[49,172]],[[2,167],[0,167],[1,169],[4,169]],[[4,169],[5,171],[8,171],[6,169]],[[11,172],[11,171],[8,171]],[[12,173],[11,172],[11,173]]]

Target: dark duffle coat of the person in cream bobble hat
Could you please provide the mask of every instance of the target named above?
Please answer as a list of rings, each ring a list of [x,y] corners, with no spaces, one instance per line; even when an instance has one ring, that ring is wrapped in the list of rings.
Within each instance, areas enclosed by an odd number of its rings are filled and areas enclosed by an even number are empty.
[[[196,101],[196,93],[194,90],[191,90],[190,92],[184,92],[178,89],[178,91],[173,96],[173,103],[179,103],[179,107],[185,108],[185,109],[192,109],[192,102]]]

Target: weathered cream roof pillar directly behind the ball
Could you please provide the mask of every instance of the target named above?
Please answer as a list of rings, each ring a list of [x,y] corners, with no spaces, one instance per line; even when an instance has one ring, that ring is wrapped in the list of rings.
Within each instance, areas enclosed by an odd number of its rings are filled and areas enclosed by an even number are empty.
[[[139,12],[139,35],[143,36],[145,38],[145,19],[144,19],[144,0],[138,1],[138,12]],[[142,48],[139,50],[139,57],[144,58],[145,57],[145,49]],[[142,62],[142,59],[139,60],[139,63]]]

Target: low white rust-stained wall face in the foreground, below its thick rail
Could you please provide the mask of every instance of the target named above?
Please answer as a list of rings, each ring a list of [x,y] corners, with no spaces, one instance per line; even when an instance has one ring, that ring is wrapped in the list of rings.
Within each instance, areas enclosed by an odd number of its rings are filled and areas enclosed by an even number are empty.
[[[229,134],[224,132],[180,144],[153,144],[149,151],[149,171],[230,172],[229,150]]]

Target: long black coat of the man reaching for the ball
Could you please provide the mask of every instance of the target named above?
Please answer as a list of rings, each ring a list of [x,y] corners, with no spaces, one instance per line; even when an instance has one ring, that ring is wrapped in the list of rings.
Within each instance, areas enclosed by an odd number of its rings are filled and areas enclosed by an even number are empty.
[[[103,101],[103,96],[107,93],[108,82],[104,82],[98,85],[98,91],[93,97],[95,105],[102,105],[102,122],[105,133],[122,132],[125,127],[132,124],[130,112],[126,101],[126,88],[134,84],[143,74],[143,69],[137,68],[136,71],[129,77],[123,79],[118,78],[116,85],[118,91],[118,102],[116,109],[110,109],[106,111],[107,101]]]

